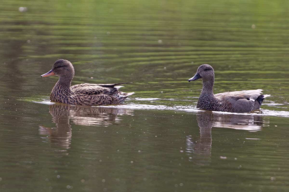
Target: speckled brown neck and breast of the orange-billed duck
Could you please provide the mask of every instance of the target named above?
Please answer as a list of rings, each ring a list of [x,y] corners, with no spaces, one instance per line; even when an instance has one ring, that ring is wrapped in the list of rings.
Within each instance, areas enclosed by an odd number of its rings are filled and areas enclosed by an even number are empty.
[[[72,78],[60,77],[51,91],[50,100],[69,104],[69,97],[72,94],[71,81]]]

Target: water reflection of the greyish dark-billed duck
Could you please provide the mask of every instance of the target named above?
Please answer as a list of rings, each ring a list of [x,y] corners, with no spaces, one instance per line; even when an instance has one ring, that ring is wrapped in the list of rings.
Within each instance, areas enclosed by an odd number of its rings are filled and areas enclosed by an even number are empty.
[[[194,141],[192,136],[186,139],[186,154],[189,161],[199,166],[209,165],[212,150],[212,127],[232,128],[248,131],[262,129],[263,120],[260,115],[240,115],[234,113],[215,113],[207,111],[197,114],[198,126],[200,127],[200,139]]]

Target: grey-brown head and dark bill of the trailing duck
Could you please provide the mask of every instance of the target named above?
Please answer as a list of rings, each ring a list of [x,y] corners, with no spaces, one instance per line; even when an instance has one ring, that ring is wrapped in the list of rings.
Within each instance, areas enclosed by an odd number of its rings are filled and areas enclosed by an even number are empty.
[[[196,75],[190,78],[188,81],[195,81],[197,79],[202,79],[203,81],[214,80],[214,69],[211,65],[203,64],[199,66]]]

